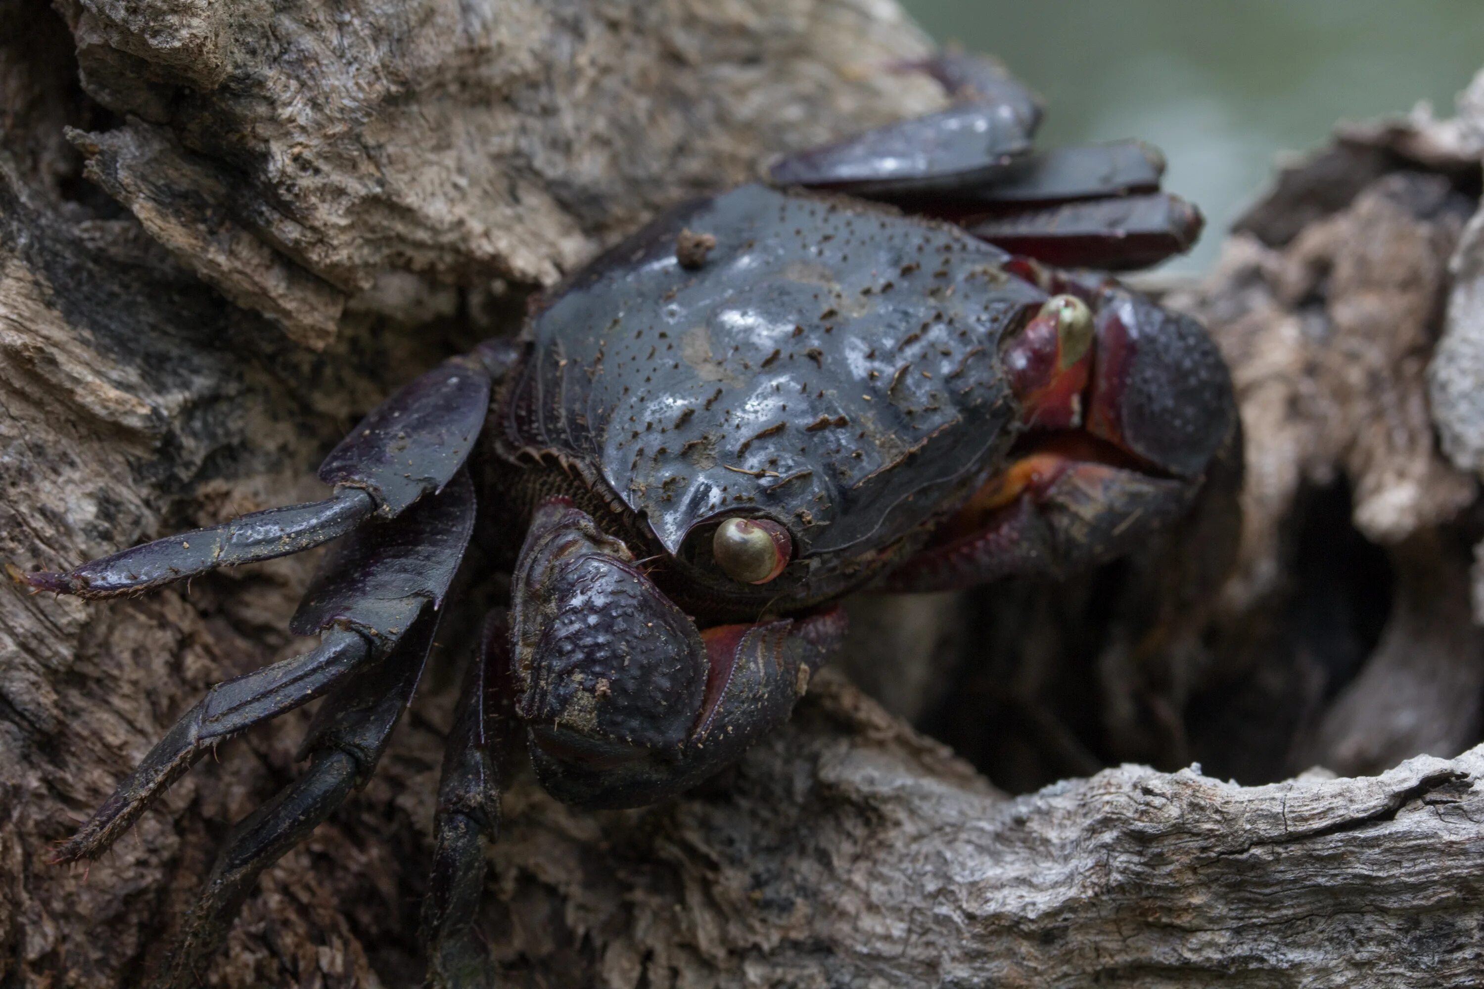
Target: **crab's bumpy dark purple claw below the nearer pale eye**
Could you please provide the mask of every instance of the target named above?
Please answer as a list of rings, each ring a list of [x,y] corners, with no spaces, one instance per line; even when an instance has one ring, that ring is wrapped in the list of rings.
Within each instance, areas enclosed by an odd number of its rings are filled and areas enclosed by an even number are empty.
[[[531,762],[582,807],[649,804],[721,770],[788,718],[843,635],[837,611],[702,632],[565,500],[537,510],[513,581]]]

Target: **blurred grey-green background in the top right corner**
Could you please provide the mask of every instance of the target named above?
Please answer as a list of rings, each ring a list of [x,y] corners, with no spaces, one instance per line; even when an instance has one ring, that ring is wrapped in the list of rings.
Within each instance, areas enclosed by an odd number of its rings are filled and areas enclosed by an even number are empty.
[[[1340,119],[1439,116],[1484,65],[1484,0],[902,0],[939,42],[990,52],[1046,98],[1043,144],[1137,136],[1206,215],[1201,270],[1279,151]]]

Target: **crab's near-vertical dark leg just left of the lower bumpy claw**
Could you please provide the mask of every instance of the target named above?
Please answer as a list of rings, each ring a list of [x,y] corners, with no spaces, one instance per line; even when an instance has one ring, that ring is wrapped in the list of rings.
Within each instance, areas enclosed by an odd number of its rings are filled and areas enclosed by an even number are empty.
[[[485,620],[444,749],[433,869],[420,924],[430,985],[491,982],[488,953],[473,936],[473,919],[484,891],[485,845],[500,826],[500,790],[516,728],[509,626],[500,612]]]

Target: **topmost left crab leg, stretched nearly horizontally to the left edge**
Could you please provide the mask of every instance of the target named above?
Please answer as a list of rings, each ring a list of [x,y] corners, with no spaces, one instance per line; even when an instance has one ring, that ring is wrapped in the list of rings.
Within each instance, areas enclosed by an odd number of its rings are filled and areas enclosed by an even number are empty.
[[[484,424],[491,378],[513,363],[506,341],[487,341],[402,387],[329,452],[319,477],[331,498],[254,512],[205,529],[135,546],[64,574],[19,583],[80,598],[113,598],[298,553],[344,535],[372,515],[393,517],[459,472]]]

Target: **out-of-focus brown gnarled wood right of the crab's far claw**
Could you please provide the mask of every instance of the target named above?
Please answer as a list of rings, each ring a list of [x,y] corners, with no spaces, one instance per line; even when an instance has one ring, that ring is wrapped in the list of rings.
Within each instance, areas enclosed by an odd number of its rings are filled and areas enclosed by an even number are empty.
[[[1466,225],[1478,222],[1469,216],[1484,157],[1481,86],[1484,77],[1460,95],[1451,120],[1417,111],[1343,128],[1239,224],[1250,236],[1227,245],[1198,297],[1175,300],[1221,340],[1248,429],[1242,546],[1223,590],[1224,620],[1269,629],[1255,638],[1260,648],[1298,639],[1282,649],[1285,660],[1282,651],[1257,655],[1252,636],[1245,649],[1229,641],[1217,646],[1227,655],[1206,664],[1218,676],[1239,669],[1248,682],[1266,676],[1267,689],[1287,684],[1296,722],[1288,771],[1322,764],[1379,773],[1419,752],[1460,752],[1484,728],[1484,636],[1469,621],[1466,572],[1478,485],[1460,470],[1457,443],[1442,427],[1450,405],[1439,388],[1460,366],[1447,335],[1468,291],[1459,277]],[[1294,190],[1324,184],[1343,162],[1349,199],[1339,202],[1345,184],[1331,184],[1322,203],[1310,199],[1312,221],[1291,230]],[[1349,649],[1336,623],[1316,636],[1273,611],[1279,602],[1293,608],[1306,595],[1303,583],[1315,580],[1296,555],[1304,552],[1306,519],[1325,512],[1315,492],[1336,483],[1347,494],[1353,532],[1382,550],[1367,550],[1374,563],[1361,580],[1373,589],[1358,587],[1350,608],[1376,606],[1385,624],[1374,644]],[[1376,593],[1377,584],[1389,590]],[[1367,624],[1358,617],[1347,623],[1352,632]],[[1284,624],[1287,635],[1278,632]],[[1248,657],[1238,660],[1242,651]]]

